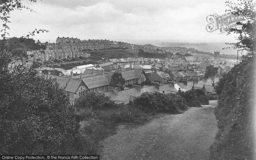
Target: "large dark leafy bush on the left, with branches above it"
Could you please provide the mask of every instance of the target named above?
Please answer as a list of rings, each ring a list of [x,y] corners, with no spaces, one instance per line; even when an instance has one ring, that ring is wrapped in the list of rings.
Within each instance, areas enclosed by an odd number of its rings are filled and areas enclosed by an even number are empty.
[[[7,45],[7,24],[11,11],[27,8],[21,2],[0,1],[0,154],[67,154],[76,146],[80,125],[65,88],[33,67],[8,67],[16,48]],[[23,38],[44,31],[35,29]]]

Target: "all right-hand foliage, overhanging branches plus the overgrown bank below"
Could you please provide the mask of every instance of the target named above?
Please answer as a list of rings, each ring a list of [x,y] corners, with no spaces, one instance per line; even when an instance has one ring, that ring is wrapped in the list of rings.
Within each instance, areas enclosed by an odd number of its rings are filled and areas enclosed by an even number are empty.
[[[256,159],[255,153],[255,31],[256,4],[253,0],[226,1],[226,11],[246,21],[241,27],[229,28],[238,34],[236,43],[226,43],[243,52],[243,60],[225,75],[215,87],[219,105],[215,109],[219,131],[211,145],[212,159]]]

